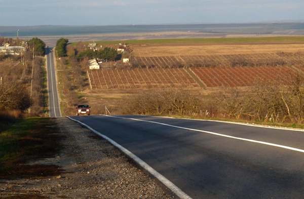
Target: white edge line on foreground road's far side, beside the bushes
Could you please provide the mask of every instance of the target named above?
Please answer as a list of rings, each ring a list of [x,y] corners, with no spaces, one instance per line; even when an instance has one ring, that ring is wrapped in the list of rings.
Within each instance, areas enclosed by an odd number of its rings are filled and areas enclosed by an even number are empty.
[[[156,115],[139,115],[139,116],[151,116],[151,117],[159,117],[159,118],[169,118],[169,119],[178,119],[178,120],[193,120],[193,121],[203,121],[203,122],[217,122],[217,123],[226,123],[226,124],[234,124],[234,125],[243,125],[249,127],[259,127],[259,128],[266,128],[266,129],[277,129],[277,130],[287,130],[287,131],[297,131],[297,132],[304,132],[303,129],[291,129],[288,127],[272,127],[272,126],[262,126],[262,125],[251,125],[241,122],[229,122],[229,121],[220,121],[220,120],[204,120],[204,119],[195,119],[195,118],[181,118],[181,117],[169,117],[169,116],[156,116]]]

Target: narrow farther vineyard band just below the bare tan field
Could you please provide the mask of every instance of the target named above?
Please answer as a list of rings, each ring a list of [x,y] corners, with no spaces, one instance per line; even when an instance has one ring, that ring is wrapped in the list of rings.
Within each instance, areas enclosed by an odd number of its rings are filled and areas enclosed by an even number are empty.
[[[199,66],[283,66],[304,65],[301,53],[264,53],[244,55],[133,57],[136,67],[199,67]]]

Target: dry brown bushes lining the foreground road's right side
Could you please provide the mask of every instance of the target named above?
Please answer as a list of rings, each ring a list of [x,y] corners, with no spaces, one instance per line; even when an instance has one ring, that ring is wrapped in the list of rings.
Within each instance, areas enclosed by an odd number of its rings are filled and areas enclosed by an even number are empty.
[[[207,95],[187,90],[147,91],[125,100],[124,114],[175,115],[303,128],[304,79],[291,85],[257,84],[250,90],[222,88]]]

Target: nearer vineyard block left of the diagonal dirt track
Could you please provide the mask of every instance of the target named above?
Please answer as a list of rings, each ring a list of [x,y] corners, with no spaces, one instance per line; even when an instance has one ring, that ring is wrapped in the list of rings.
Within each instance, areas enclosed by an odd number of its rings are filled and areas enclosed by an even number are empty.
[[[91,70],[93,89],[149,89],[200,87],[188,72],[181,68],[101,69]]]

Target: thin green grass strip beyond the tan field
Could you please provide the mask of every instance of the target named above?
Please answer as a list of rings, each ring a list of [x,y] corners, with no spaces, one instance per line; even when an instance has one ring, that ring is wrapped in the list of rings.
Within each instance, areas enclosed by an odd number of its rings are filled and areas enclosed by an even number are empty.
[[[89,44],[90,42],[85,42]],[[272,36],[272,37],[228,37],[228,38],[172,38],[172,39],[138,39],[127,41],[98,41],[99,45],[170,45],[170,44],[201,44],[201,45],[237,45],[237,44],[304,44],[304,36]],[[72,46],[77,43],[72,43]]]

